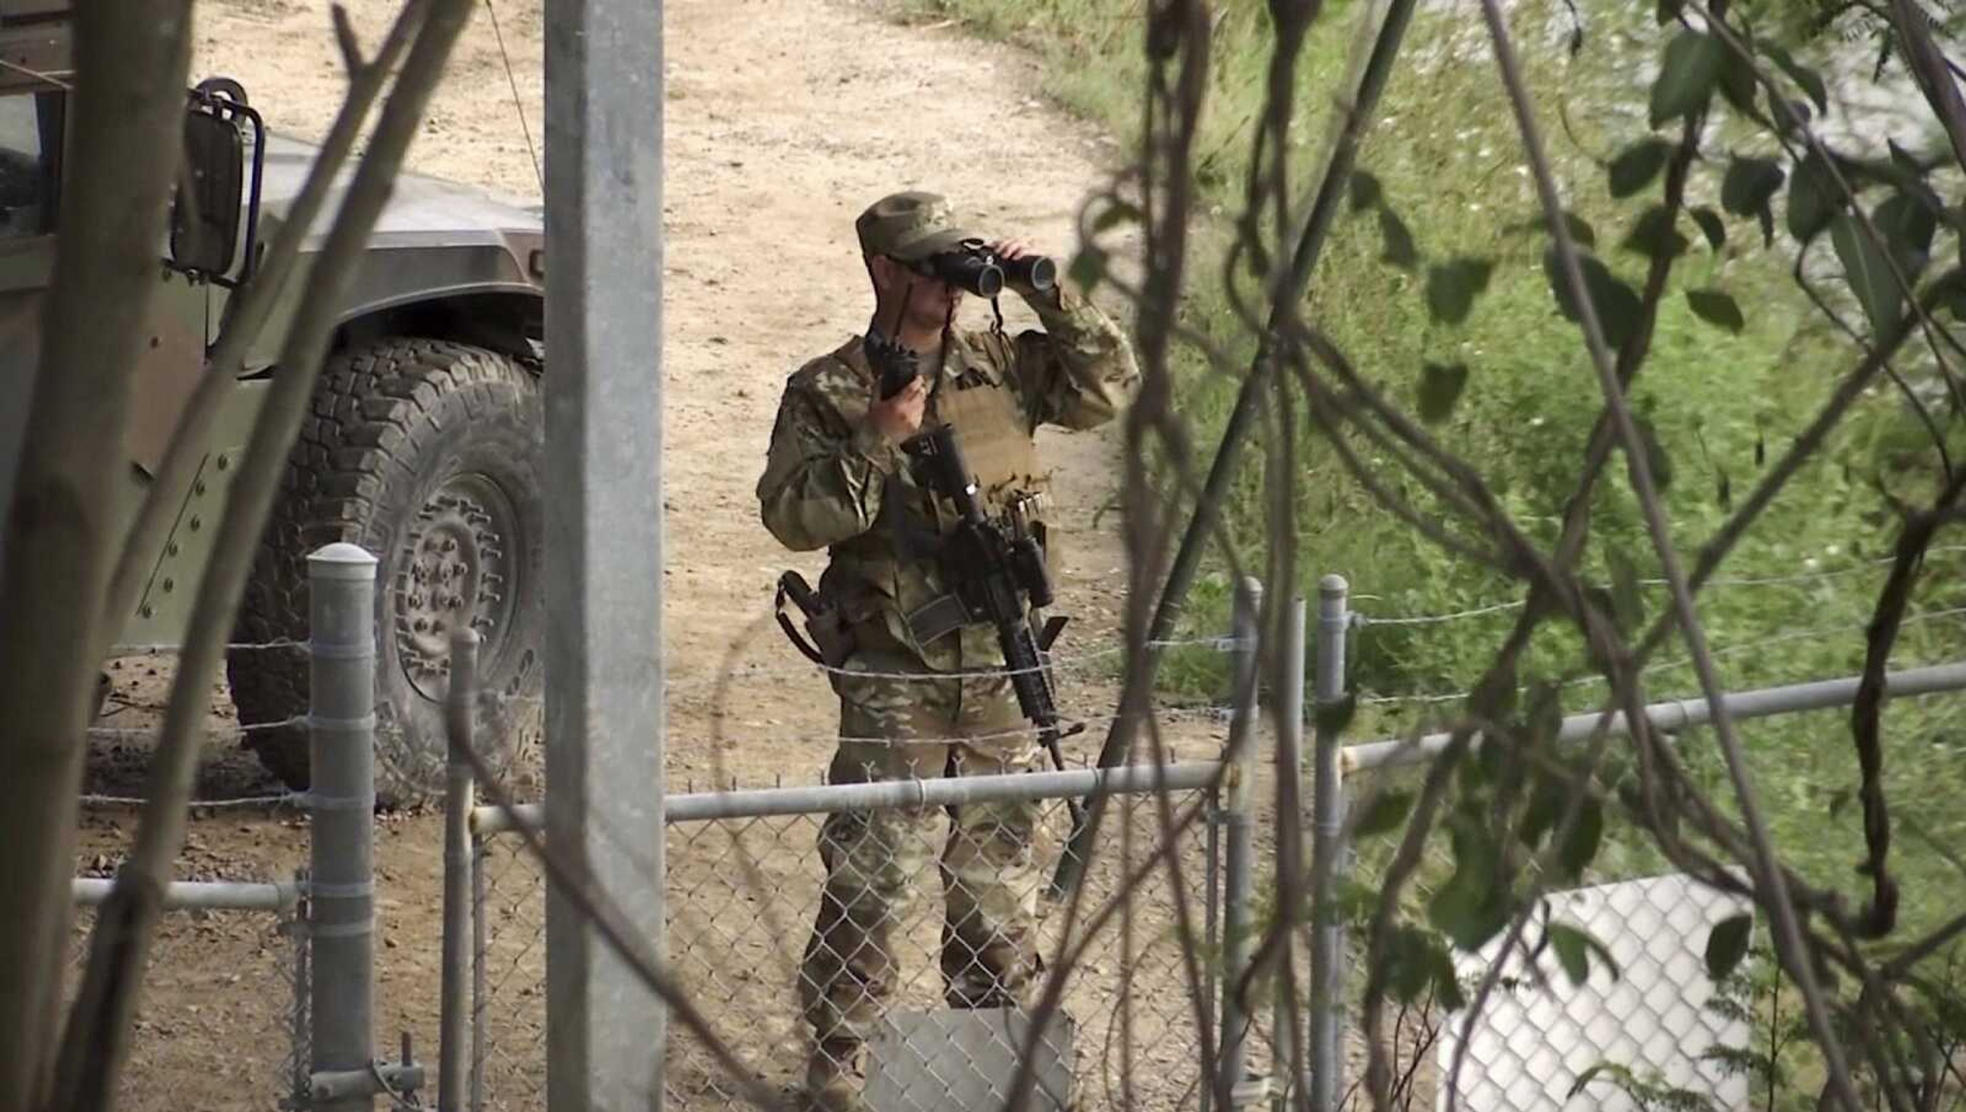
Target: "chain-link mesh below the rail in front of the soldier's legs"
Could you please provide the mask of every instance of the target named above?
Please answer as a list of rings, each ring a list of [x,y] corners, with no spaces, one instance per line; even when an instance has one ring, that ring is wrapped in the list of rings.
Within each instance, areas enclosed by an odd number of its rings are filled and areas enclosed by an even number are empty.
[[[810,790],[814,802],[828,792]],[[1030,1010],[1070,963],[1060,1016],[1032,1055],[1036,1106],[1193,1108],[1219,992],[1215,809],[1207,788],[1162,798],[1168,815],[1152,796],[1113,802],[1075,916],[1070,900],[1044,896],[1070,833],[1056,794],[963,804],[955,819],[918,806],[678,821],[670,969],[755,1081],[794,1094],[820,1028],[851,1029],[859,1045],[838,1053],[847,1083],[898,1110],[1001,1104]],[[482,841],[476,861],[474,1104],[537,1106],[541,872],[515,837]],[[1012,998],[1026,1010],[1005,1008]],[[737,1079],[676,1022],[665,1084],[678,1108],[745,1104]]]

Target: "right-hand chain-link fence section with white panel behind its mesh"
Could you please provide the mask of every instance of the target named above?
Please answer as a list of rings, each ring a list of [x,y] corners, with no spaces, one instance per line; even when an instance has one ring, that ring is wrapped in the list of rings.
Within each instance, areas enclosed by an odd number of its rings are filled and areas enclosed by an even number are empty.
[[[1960,664],[1891,672],[1881,733],[1895,745],[1881,788],[1891,800],[1897,843],[1889,868],[1903,902],[1899,929],[1879,943],[1879,953],[1925,937],[1966,906],[1966,874],[1946,849],[1966,835],[1952,790],[1958,723],[1966,721],[1966,699],[1956,695],[1962,688]],[[1860,906],[1870,888],[1862,806],[1852,802],[1854,695],[1854,680],[1807,682],[1736,690],[1728,705],[1783,866]],[[1732,778],[1705,725],[1708,703],[1655,703],[1648,717],[1687,782],[1738,821]],[[1592,719],[1583,713],[1551,723],[1561,729],[1545,741],[1573,745],[1567,752],[1577,758],[1577,743],[1596,727]],[[1616,729],[1622,733],[1622,725]],[[1443,745],[1445,735],[1427,735],[1417,745],[1331,747],[1341,754],[1345,796],[1364,806],[1360,825],[1370,829],[1347,845],[1349,868],[1333,888],[1345,923],[1339,1108],[1370,1106],[1364,1079],[1372,1026],[1362,1012],[1368,923],[1408,835],[1406,807],[1423,796],[1427,764]],[[1376,1037],[1390,1065],[1394,1108],[1817,1106],[1821,1053],[1801,1000],[1773,967],[1767,921],[1748,896],[1706,884],[1665,859],[1657,839],[1618,806],[1628,798],[1620,792],[1638,784],[1630,743],[1614,739],[1606,754],[1596,778],[1602,796],[1590,800],[1573,800],[1567,788],[1549,792],[1553,782],[1512,764],[1500,747],[1486,756],[1471,752],[1443,784],[1437,821],[1398,892],[1398,912],[1376,955],[1386,982]],[[1809,770],[1822,774],[1813,778]],[[1559,843],[1555,819],[1573,802],[1579,821]],[[1374,813],[1386,817],[1374,821]],[[1514,866],[1504,868],[1504,861]],[[1510,898],[1498,898],[1498,876],[1516,878]],[[1512,935],[1514,898],[1537,878],[1541,896],[1520,935]],[[1748,882],[1738,862],[1732,878]],[[1480,941],[1463,945],[1469,939]],[[1940,947],[1919,967],[1917,982],[1931,988],[1931,1000],[1917,1006],[1933,1008],[1923,1033],[1950,1047],[1942,1061],[1966,1047],[1960,957],[1960,947]],[[1832,998],[1852,1004],[1858,990],[1846,978]],[[1921,994],[1925,988],[1911,992]],[[1870,1084],[1862,1071],[1856,1081],[1860,1088]],[[1966,1102],[1956,1071],[1935,1071],[1925,1083],[1931,1102],[1921,1108]]]

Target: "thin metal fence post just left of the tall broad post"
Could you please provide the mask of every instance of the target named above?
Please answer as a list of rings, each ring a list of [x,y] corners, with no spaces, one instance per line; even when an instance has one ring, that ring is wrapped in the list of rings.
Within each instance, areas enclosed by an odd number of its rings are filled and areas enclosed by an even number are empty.
[[[436,1108],[460,1112],[472,1075],[470,988],[472,988],[472,807],[476,800],[472,705],[478,701],[478,631],[460,627],[450,639],[450,692],[446,692],[446,735],[450,762],[444,768],[444,969],[438,1010]]]

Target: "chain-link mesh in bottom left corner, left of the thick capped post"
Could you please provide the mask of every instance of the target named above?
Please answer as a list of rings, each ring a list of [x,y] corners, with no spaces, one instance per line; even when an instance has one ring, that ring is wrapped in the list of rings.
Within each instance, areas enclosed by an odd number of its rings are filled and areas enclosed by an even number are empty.
[[[258,886],[256,886],[258,888]],[[265,886],[271,890],[273,886]],[[67,996],[88,965],[96,910],[77,906]],[[307,923],[277,910],[179,908],[157,923],[116,1106],[307,1108]],[[210,961],[212,953],[228,961]]]

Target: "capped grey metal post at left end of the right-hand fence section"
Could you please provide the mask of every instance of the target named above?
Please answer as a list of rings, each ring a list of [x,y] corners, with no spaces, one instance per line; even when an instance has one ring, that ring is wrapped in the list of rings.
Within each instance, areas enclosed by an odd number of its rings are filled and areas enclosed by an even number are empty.
[[[1351,627],[1349,584],[1325,576],[1317,584],[1317,709],[1345,701],[1345,635]],[[1345,780],[1339,768],[1341,729],[1319,713],[1315,825],[1311,827],[1311,1108],[1337,1112],[1345,1084],[1345,927],[1337,914],[1337,882],[1345,853]]]

